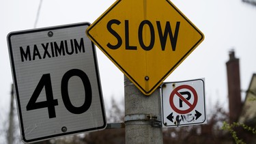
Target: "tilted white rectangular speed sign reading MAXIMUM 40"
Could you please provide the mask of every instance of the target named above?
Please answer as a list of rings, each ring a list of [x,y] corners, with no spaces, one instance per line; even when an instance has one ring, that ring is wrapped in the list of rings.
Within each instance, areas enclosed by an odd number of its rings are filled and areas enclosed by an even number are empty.
[[[89,23],[9,33],[8,46],[24,142],[106,128]]]

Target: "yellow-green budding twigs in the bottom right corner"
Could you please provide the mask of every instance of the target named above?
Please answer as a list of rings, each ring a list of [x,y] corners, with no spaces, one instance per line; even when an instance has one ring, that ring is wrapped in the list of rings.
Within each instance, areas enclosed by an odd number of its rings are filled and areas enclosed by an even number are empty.
[[[245,124],[240,124],[237,122],[233,122],[233,124],[227,124],[227,122],[224,121],[222,129],[229,131],[229,133],[232,135],[232,137],[236,141],[236,143],[244,144],[244,141],[242,141],[242,139],[240,139],[238,137],[236,131],[234,130],[235,128],[238,128],[238,127],[242,128],[248,132],[251,132],[252,134],[256,134],[255,128],[252,128],[250,126],[246,126]]]

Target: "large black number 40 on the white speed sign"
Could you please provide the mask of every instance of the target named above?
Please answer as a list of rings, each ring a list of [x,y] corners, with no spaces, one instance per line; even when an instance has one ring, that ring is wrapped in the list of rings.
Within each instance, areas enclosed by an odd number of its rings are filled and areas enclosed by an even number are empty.
[[[68,96],[68,81],[72,76],[79,76],[83,81],[83,87],[85,89],[85,102],[82,106],[76,107],[73,106],[70,102],[70,97]],[[36,102],[42,89],[45,89],[46,93],[46,101]],[[70,113],[81,114],[85,113],[91,106],[91,83],[89,82],[89,78],[85,72],[78,69],[72,69],[66,72],[61,79],[61,97],[63,100],[66,109],[70,111]],[[58,105],[58,100],[53,99],[53,87],[51,85],[51,76],[50,74],[43,74],[38,85],[35,87],[35,91],[27,104],[27,111],[48,108],[49,118],[56,117],[55,106]]]

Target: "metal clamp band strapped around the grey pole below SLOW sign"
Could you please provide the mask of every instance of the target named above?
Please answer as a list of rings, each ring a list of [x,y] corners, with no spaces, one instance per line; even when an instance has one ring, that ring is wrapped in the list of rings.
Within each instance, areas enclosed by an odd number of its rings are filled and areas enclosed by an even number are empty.
[[[124,117],[124,121],[147,121],[150,122],[150,125],[152,127],[162,127],[162,121],[159,121],[157,119],[158,117],[153,116],[152,113],[151,114],[134,114],[134,115],[126,115]]]

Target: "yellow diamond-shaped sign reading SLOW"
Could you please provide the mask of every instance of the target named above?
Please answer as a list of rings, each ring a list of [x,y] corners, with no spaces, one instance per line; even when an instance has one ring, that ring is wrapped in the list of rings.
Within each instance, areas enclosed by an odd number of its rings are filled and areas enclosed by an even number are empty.
[[[204,39],[169,0],[117,0],[87,35],[145,95]]]

